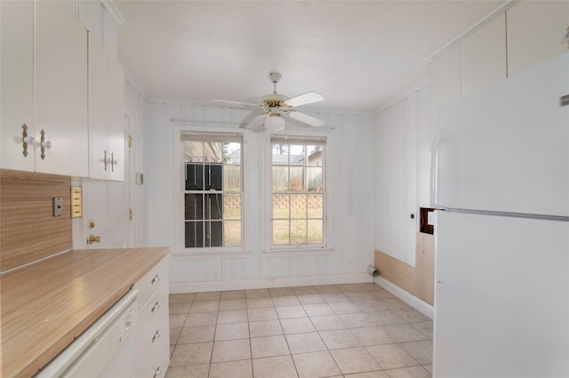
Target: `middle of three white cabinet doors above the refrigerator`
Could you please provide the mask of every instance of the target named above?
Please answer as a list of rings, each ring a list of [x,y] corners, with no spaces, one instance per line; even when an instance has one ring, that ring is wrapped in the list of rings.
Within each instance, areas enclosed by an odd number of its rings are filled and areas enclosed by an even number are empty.
[[[506,16],[501,14],[461,42],[461,94],[506,78]]]

